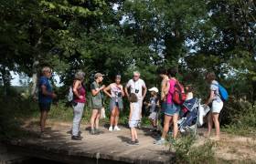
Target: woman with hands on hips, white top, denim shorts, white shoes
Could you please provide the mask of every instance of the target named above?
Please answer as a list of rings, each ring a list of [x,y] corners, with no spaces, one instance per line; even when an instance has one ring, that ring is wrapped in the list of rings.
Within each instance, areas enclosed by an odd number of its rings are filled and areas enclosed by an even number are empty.
[[[121,84],[121,76],[115,76],[115,82],[104,88],[104,93],[111,98],[110,109],[111,109],[111,125],[109,131],[121,130],[118,125],[118,119],[120,110],[123,109],[123,85]],[[111,91],[111,92],[109,92]],[[114,125],[114,128],[113,128]]]

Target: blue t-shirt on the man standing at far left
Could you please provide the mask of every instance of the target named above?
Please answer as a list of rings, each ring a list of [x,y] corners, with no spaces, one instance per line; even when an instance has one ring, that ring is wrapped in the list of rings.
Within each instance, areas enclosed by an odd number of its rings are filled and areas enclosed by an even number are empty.
[[[51,96],[43,95],[43,93],[42,93],[42,86],[47,87],[47,91],[49,93],[52,93],[52,87],[50,85],[48,77],[40,77],[40,79],[39,79],[38,101],[39,101],[39,103],[51,103],[52,102],[52,97]]]

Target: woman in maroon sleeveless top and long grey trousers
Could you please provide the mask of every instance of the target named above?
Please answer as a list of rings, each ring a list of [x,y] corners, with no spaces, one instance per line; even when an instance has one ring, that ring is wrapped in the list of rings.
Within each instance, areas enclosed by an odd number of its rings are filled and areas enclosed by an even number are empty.
[[[78,71],[75,75],[75,79],[72,85],[72,91],[73,91],[73,101],[72,101],[72,107],[73,107],[73,126],[72,126],[72,137],[73,140],[81,140],[80,136],[80,120],[83,113],[83,108],[86,102],[85,97],[85,87],[83,85],[84,80],[84,72]]]

